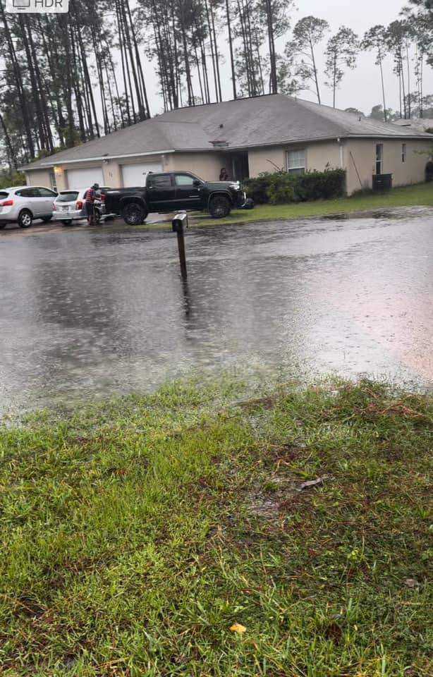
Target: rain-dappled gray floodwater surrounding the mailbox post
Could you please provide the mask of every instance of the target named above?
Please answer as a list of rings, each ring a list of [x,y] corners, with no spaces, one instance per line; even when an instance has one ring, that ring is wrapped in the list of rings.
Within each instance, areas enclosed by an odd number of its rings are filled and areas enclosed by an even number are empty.
[[[0,232],[0,411],[191,369],[433,383],[433,210],[191,229]]]

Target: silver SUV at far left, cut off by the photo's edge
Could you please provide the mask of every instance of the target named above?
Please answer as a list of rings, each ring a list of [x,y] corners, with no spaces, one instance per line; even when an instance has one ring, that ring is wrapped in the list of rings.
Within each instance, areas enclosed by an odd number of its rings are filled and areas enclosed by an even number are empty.
[[[19,185],[0,189],[0,228],[18,224],[30,228],[33,219],[44,223],[53,218],[53,205],[57,193],[39,185]]]

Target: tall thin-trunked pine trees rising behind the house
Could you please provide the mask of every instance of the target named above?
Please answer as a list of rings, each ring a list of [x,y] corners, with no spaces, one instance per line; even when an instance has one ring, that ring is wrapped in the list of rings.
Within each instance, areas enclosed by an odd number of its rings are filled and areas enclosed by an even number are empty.
[[[70,0],[68,14],[10,14],[0,0],[1,161],[32,159],[98,138],[181,106],[323,87],[337,104],[361,51],[377,65],[384,119],[388,61],[396,75],[398,115],[422,117],[433,66],[432,0],[409,0],[388,26],[358,36],[326,20],[293,21],[294,0]],[[324,72],[318,66],[325,56]],[[149,71],[159,100],[150,102]],[[152,106],[151,106],[152,104]]]

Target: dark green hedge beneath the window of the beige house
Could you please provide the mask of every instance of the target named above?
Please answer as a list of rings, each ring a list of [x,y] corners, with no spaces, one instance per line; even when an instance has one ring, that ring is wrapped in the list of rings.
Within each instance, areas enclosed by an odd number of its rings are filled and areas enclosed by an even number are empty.
[[[330,200],[341,197],[346,190],[346,171],[327,169],[291,174],[287,171],[265,172],[257,178],[245,181],[248,197],[258,205],[270,202],[281,205],[286,202]]]

